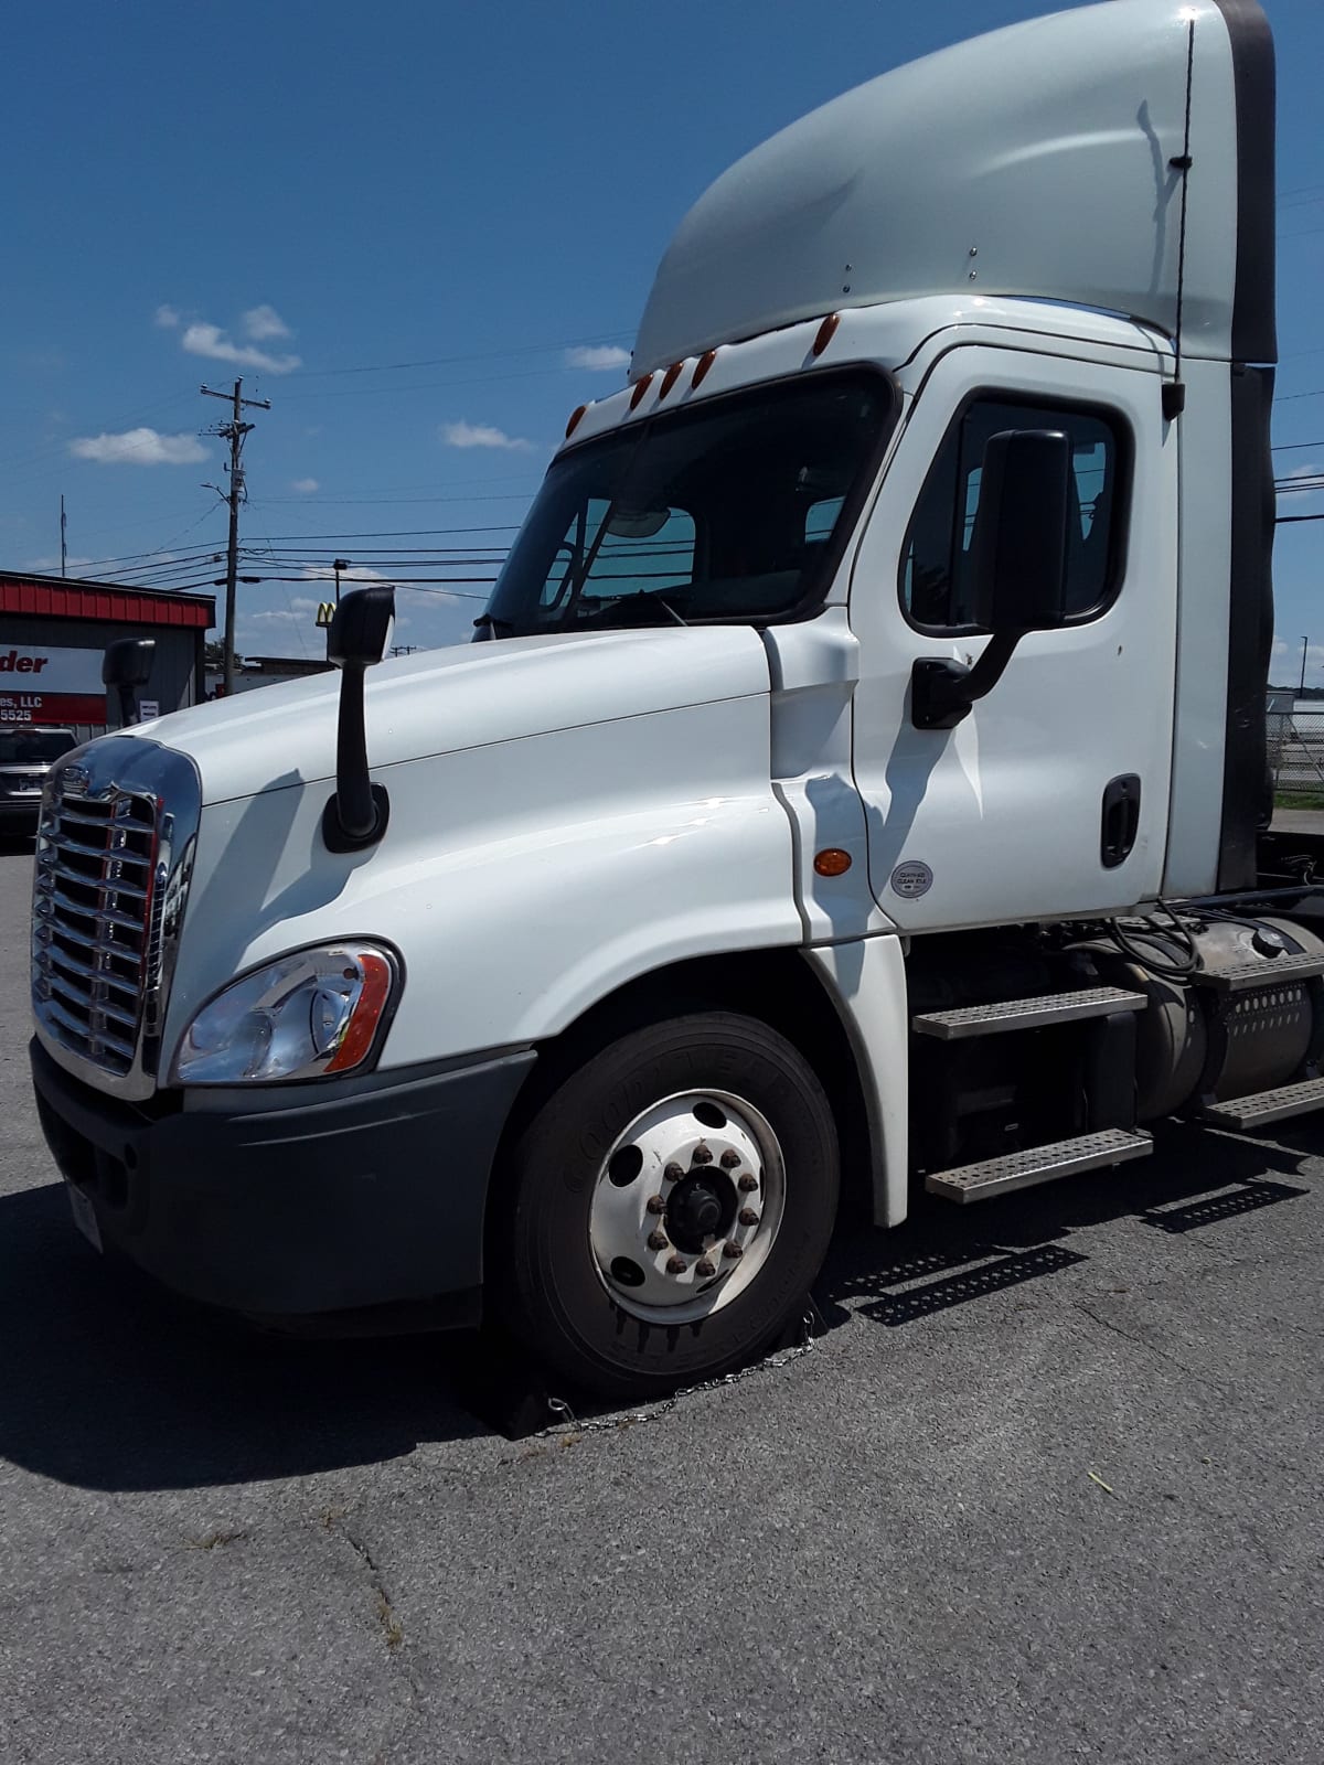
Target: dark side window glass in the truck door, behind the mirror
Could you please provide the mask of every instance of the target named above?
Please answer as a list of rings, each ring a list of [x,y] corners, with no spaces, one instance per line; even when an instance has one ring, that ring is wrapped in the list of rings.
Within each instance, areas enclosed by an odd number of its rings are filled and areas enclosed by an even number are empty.
[[[906,535],[900,604],[927,632],[973,632],[974,533],[980,521],[983,450],[1006,429],[1057,429],[1072,441],[1066,526],[1066,611],[1102,612],[1121,577],[1121,533],[1130,471],[1119,418],[1073,406],[973,399],[948,429]]]

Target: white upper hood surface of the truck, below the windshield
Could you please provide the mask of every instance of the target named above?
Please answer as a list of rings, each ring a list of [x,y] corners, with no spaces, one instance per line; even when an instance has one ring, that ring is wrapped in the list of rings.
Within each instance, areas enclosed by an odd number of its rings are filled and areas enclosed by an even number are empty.
[[[374,775],[402,761],[768,692],[745,625],[570,632],[427,650],[367,676]],[[335,775],[337,672],[177,711],[132,734],[187,754],[203,803]]]

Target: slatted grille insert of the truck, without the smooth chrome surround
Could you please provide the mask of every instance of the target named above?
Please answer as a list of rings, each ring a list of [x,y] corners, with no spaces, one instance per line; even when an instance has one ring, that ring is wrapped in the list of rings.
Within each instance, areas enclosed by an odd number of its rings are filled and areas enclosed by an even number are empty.
[[[55,1034],[127,1073],[152,969],[155,803],[53,792],[37,835],[32,990]]]

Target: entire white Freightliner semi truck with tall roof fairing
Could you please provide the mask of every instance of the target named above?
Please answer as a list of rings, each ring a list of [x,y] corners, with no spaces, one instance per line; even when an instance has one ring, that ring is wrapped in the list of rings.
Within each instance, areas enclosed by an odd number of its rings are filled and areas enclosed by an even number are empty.
[[[974,1202],[1324,1105],[1264,833],[1273,48],[1112,0],[752,152],[475,642],[102,738],[35,863],[74,1216],[267,1322],[664,1391],[842,1191]]]

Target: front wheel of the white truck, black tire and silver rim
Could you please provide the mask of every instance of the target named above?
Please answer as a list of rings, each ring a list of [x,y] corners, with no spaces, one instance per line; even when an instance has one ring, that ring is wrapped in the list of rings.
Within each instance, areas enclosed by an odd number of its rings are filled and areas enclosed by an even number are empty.
[[[505,1322],[607,1398],[731,1371],[803,1306],[839,1165],[817,1077],[766,1024],[704,1011],[623,1036],[514,1149]]]

